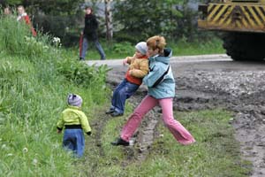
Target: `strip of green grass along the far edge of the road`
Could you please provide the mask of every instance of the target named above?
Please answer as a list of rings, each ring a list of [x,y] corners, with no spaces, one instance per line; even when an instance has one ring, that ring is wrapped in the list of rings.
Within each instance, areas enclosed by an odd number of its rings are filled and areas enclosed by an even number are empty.
[[[209,42],[168,42],[167,47],[173,50],[173,56],[189,56],[189,55],[204,55],[204,54],[219,54],[225,53],[223,50],[221,39],[214,38]],[[107,59],[119,59],[127,56],[133,56],[134,45],[130,42],[116,43],[116,42],[101,42],[102,48],[107,56]],[[79,57],[79,49],[72,48],[68,50],[72,58]],[[87,50],[87,60],[100,59],[100,54],[91,44]]]

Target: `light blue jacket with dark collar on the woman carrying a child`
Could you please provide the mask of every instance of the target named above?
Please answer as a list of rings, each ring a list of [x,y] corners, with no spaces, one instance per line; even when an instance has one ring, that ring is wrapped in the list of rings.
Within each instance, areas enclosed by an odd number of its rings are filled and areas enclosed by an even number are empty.
[[[149,73],[143,79],[148,95],[156,99],[175,96],[175,80],[170,67],[172,50],[164,49],[163,56],[150,57]]]

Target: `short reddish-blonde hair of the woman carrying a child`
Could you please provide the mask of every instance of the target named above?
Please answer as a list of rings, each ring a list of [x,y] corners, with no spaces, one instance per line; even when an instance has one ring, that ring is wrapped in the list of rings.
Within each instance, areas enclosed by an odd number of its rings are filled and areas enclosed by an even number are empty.
[[[158,49],[159,53],[163,53],[163,49],[166,45],[166,42],[163,36],[155,35],[153,37],[148,38],[147,44],[148,47],[150,47],[152,50]]]

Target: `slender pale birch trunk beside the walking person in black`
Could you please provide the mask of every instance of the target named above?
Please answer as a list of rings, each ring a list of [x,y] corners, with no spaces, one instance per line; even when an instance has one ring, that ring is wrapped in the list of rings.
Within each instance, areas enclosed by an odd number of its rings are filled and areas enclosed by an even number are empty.
[[[105,21],[106,21],[106,37],[108,41],[112,40],[113,37],[113,29],[112,29],[112,12],[111,12],[111,1],[112,0],[104,0],[105,1]]]

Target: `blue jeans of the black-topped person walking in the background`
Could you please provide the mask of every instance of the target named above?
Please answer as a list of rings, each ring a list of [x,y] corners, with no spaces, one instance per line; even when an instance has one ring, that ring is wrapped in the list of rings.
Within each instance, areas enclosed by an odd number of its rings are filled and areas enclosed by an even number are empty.
[[[83,38],[82,50],[80,52],[80,56],[79,57],[82,58],[82,59],[85,59],[89,42],[94,42],[96,50],[98,50],[99,54],[101,55],[101,59],[102,60],[105,59],[106,58],[105,57],[105,53],[104,53],[104,50],[102,49],[102,45],[100,44],[100,42],[98,42],[97,39],[95,39],[95,40],[87,40],[87,37]]]

